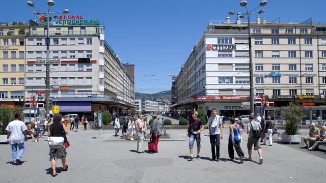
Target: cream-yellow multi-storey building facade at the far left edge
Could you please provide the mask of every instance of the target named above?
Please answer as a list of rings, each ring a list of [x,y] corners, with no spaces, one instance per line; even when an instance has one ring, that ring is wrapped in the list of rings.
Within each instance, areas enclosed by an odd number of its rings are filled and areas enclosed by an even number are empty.
[[[0,23],[0,104],[18,105],[24,98],[25,37],[29,24]]]

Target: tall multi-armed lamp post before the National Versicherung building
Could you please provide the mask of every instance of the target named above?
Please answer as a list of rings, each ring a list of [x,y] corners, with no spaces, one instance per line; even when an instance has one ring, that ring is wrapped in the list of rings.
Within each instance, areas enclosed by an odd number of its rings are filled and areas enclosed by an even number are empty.
[[[49,15],[54,16],[53,14],[55,13],[69,13],[68,9],[64,9],[62,11],[57,11],[57,12],[50,12],[51,6],[55,5],[55,2],[52,0],[47,1],[47,5],[49,6],[48,10],[45,11],[41,9],[40,7],[37,7],[33,2],[28,1],[26,3],[30,7],[36,7],[42,12],[39,13],[37,11],[34,11],[34,14],[40,15],[40,14],[46,14],[46,22],[47,22],[47,29],[46,29],[46,64],[45,64],[45,71],[46,71],[46,79],[45,79],[45,113],[49,114],[50,113],[50,69],[49,69],[49,45],[50,45],[50,38],[49,38]]]

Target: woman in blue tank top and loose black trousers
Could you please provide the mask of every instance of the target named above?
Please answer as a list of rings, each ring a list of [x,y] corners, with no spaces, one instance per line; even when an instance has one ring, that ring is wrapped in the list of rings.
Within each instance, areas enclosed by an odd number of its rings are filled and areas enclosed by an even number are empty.
[[[228,145],[228,151],[229,151],[229,157],[230,161],[234,161],[234,149],[236,151],[236,154],[238,154],[240,158],[240,164],[243,163],[243,157],[244,154],[240,147],[240,140],[238,133],[240,132],[240,126],[235,123],[235,119],[233,117],[230,118],[231,125],[229,125],[230,133],[229,133],[229,145]]]

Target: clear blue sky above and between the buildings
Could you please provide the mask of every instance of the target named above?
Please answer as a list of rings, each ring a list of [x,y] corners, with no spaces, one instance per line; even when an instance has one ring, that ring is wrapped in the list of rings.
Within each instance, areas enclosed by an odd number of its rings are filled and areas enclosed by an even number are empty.
[[[52,10],[69,9],[71,15],[99,19],[105,25],[105,40],[122,59],[135,65],[135,90],[155,93],[171,89],[170,74],[178,74],[187,55],[199,40],[210,20],[225,20],[229,10],[243,12],[238,0],[215,1],[67,1],[54,0]],[[280,17],[281,22],[326,22],[322,12],[324,0],[267,0],[263,7],[267,21]],[[6,1],[0,11],[0,21],[28,21],[36,19],[35,8],[27,1]],[[46,0],[33,1],[45,9]],[[253,9],[260,1],[248,0]],[[261,8],[262,9],[262,8]],[[256,15],[252,15],[252,21]],[[235,20],[235,15],[231,20]]]

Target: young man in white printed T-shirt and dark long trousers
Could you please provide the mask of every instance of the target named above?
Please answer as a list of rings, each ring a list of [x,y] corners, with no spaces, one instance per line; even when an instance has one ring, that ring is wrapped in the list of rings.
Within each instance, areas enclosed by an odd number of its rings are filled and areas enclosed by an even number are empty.
[[[212,109],[212,115],[208,118],[209,141],[212,152],[212,161],[220,161],[220,138],[222,134],[222,116],[216,115],[216,109]],[[216,152],[215,152],[216,148]]]

